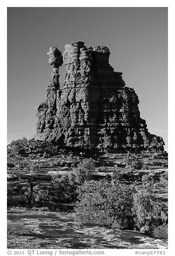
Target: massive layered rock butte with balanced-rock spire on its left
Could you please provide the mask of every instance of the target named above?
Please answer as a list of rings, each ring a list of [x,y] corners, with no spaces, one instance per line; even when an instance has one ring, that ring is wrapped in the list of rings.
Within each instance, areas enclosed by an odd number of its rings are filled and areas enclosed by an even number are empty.
[[[63,57],[50,47],[52,81],[45,102],[37,106],[39,140],[61,146],[104,150],[161,150],[164,141],[150,134],[140,117],[138,97],[125,86],[122,73],[110,66],[105,46],[86,48],[84,42],[65,45]],[[59,67],[67,73],[59,83]]]

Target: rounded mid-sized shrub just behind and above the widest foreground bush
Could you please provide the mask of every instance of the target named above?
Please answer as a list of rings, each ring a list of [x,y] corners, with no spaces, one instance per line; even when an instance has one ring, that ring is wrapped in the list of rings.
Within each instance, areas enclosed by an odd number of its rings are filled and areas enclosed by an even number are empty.
[[[96,166],[92,159],[83,159],[74,169],[73,173],[76,177],[77,183],[83,183],[84,181],[92,179],[93,172],[96,171]]]

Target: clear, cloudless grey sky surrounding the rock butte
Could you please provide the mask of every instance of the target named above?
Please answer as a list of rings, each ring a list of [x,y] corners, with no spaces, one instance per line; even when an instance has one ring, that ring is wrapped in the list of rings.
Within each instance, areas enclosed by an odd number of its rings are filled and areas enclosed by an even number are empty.
[[[50,46],[84,41],[110,49],[110,65],[140,99],[148,130],[167,150],[167,8],[8,8],[8,143],[35,134]],[[60,68],[61,82],[65,68]]]

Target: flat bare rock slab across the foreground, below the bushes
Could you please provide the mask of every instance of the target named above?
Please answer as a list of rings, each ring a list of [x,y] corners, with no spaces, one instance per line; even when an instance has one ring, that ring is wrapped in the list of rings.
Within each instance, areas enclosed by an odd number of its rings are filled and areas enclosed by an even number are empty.
[[[165,249],[167,241],[98,224],[76,224],[72,212],[9,209],[8,248]]]

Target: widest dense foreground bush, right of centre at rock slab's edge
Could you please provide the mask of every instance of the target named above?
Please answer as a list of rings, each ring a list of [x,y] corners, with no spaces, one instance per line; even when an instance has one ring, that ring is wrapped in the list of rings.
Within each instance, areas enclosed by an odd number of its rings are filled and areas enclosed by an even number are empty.
[[[76,220],[132,228],[133,186],[116,181],[85,181],[78,189]]]

